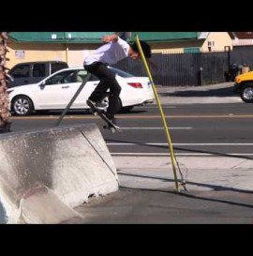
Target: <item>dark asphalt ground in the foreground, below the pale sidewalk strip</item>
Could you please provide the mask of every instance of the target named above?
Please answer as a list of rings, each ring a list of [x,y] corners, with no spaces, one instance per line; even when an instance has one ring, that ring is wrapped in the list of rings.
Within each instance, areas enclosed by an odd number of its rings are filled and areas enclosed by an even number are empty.
[[[121,187],[76,208],[86,224],[252,224],[252,191]]]

